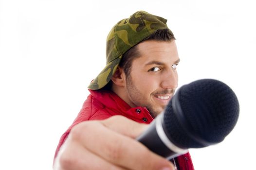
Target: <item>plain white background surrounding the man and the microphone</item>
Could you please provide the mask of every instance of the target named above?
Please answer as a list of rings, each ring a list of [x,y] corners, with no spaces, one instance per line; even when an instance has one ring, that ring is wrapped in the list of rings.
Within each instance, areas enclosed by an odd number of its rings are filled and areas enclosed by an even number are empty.
[[[58,140],[105,65],[111,27],[138,10],[168,19],[180,84],[213,78],[240,103],[225,140],[190,150],[196,170],[256,170],[254,0],[0,0],[0,170],[51,170]]]

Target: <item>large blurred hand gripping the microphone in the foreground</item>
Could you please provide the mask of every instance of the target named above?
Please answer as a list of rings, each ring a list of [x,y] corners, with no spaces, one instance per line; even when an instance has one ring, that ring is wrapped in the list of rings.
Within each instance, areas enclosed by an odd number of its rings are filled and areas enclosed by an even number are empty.
[[[81,122],[62,145],[54,170],[174,170],[134,140],[147,126],[122,116]]]

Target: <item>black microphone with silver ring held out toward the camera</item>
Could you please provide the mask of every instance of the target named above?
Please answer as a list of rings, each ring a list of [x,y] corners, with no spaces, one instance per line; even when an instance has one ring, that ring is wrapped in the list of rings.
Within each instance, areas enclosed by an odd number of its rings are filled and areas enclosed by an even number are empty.
[[[226,84],[201,79],[183,85],[137,140],[167,159],[189,148],[217,144],[233,130],[239,116],[238,98]]]

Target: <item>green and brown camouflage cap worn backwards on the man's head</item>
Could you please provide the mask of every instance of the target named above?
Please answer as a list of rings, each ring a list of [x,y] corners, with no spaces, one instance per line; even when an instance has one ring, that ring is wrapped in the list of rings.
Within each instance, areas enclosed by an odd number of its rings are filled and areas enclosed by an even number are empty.
[[[123,54],[156,30],[168,28],[166,22],[163,17],[138,11],[114,25],[107,37],[107,65],[88,88],[97,90],[107,85]]]

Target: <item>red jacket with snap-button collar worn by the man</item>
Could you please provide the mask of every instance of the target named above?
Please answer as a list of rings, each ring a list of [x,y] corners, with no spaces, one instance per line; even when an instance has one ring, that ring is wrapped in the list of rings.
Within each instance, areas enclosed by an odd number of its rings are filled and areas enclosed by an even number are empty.
[[[106,90],[89,90],[90,95],[84,102],[82,109],[78,113],[73,124],[61,136],[55,157],[59,148],[64,143],[65,139],[70,133],[72,127],[86,120],[102,120],[110,118],[114,115],[122,115],[140,123],[150,123],[153,118],[146,107],[131,108],[125,101],[123,101],[115,93]],[[180,170],[194,170],[193,163],[189,153],[185,153],[177,157]]]

